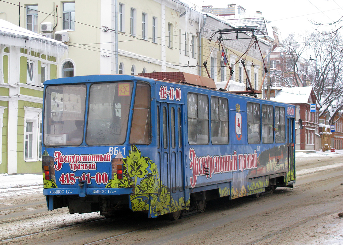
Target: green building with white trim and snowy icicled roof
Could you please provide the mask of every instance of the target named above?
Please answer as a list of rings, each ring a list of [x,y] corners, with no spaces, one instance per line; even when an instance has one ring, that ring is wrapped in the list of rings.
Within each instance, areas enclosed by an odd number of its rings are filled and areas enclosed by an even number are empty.
[[[0,173],[42,172],[43,82],[68,46],[0,19]]]

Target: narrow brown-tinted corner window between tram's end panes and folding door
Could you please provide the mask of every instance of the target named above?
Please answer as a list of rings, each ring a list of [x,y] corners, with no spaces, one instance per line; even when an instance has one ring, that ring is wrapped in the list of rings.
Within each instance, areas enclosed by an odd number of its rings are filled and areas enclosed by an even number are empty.
[[[130,144],[151,143],[150,86],[138,82],[134,98]]]

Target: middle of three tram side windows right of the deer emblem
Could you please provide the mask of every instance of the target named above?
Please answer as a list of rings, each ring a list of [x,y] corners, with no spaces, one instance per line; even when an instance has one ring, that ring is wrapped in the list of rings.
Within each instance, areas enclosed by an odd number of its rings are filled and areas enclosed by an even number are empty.
[[[262,143],[274,142],[273,111],[272,105],[262,105]]]

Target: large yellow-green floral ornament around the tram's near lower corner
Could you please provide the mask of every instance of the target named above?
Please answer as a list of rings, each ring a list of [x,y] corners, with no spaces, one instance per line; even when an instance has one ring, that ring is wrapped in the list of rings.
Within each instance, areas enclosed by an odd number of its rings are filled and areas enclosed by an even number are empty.
[[[122,159],[127,168],[123,170],[123,179],[118,179],[114,173],[107,188],[130,187],[134,184],[134,194],[130,195],[132,211],[147,211],[151,217],[188,209],[190,200],[185,202],[181,197],[174,200],[167,186],[161,185],[157,165],[148,157],[141,156],[141,151],[135,145],[126,158]],[[138,179],[141,179],[138,183]],[[134,179],[134,180],[132,180]],[[161,186],[161,188],[160,188]]]

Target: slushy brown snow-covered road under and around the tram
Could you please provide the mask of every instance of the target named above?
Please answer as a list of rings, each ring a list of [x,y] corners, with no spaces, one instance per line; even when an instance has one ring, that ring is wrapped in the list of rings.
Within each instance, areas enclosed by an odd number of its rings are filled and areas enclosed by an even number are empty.
[[[4,180],[10,176],[0,176],[0,245],[343,244],[342,153],[297,155],[295,188],[258,199],[210,201],[204,213],[174,222],[47,211],[42,186],[11,188]],[[12,181],[24,186],[19,182]]]

